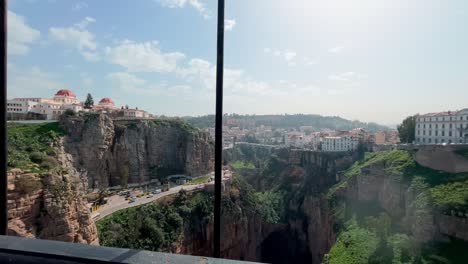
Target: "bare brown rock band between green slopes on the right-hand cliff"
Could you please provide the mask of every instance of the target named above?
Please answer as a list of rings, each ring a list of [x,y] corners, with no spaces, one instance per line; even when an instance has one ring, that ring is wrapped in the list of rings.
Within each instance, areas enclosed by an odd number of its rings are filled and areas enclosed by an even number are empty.
[[[355,201],[375,201],[420,242],[440,240],[443,236],[468,241],[468,218],[457,212],[420,210],[415,190],[402,180],[403,175],[386,170],[385,163],[362,169],[347,181],[341,195]],[[423,194],[424,195],[424,194]]]

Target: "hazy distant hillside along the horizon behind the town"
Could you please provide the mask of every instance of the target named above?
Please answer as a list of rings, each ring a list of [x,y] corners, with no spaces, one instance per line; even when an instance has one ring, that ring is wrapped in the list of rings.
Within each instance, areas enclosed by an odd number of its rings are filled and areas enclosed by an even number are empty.
[[[214,127],[214,115],[200,117],[185,117],[192,126],[198,128]],[[364,123],[351,121],[337,116],[320,115],[227,115],[223,120],[228,126],[272,126],[274,128],[298,128],[300,126],[312,126],[316,130],[333,129],[349,130],[362,127],[368,131],[388,130],[386,126],[376,123]]]

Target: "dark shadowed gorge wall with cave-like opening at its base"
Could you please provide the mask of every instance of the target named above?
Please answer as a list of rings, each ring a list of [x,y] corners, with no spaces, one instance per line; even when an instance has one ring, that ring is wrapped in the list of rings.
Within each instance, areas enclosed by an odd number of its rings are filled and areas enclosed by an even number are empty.
[[[321,263],[335,241],[334,219],[329,202],[322,194],[336,183],[338,172],[349,167],[356,157],[284,149],[256,151],[254,146],[242,146],[240,154],[234,151],[235,155],[228,154],[230,161],[245,158],[246,153],[256,160],[280,156],[284,166],[275,171],[278,175],[274,182],[290,185],[292,189],[285,200],[288,213],[283,223],[266,223],[256,215],[223,213],[222,256],[267,263]],[[236,155],[238,157],[234,157]],[[256,191],[271,187],[271,182],[258,170],[238,170],[237,174]],[[186,233],[180,252],[210,256],[211,238],[211,224],[198,232]]]

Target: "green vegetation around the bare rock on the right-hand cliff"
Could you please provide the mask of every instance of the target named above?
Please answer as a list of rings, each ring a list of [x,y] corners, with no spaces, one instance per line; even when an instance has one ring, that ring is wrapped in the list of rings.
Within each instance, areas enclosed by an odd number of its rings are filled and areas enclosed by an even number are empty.
[[[325,263],[468,263],[468,242],[417,242],[391,218],[376,200],[346,198],[340,190],[353,188],[356,177],[392,177],[406,186],[406,210],[417,219],[434,212],[450,214],[468,209],[468,173],[447,173],[419,165],[414,153],[405,150],[366,153],[343,172],[343,180],[326,193],[335,218],[337,241]],[[385,198],[384,198],[385,199]],[[410,220],[411,221],[411,220]],[[407,232],[407,233],[406,233]]]

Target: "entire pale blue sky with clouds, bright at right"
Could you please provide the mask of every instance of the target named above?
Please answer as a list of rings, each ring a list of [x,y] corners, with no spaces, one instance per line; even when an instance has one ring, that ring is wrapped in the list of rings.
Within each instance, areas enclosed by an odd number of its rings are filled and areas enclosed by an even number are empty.
[[[225,112],[395,124],[468,107],[468,2],[227,0]],[[213,113],[216,1],[10,0],[8,95]]]

